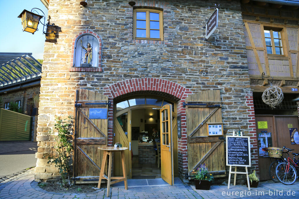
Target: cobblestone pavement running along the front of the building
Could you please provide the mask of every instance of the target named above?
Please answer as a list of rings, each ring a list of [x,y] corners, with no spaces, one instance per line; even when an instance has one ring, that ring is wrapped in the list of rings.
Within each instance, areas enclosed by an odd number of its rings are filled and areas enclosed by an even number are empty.
[[[252,188],[250,192],[245,185],[231,186],[230,189],[227,189],[227,186],[215,185],[211,186],[210,190],[196,190],[193,185],[129,187],[128,190],[123,187],[111,187],[109,198],[298,198],[298,185],[298,181],[289,186],[281,183],[262,182],[258,188]],[[1,182],[0,198],[106,199],[106,190],[100,189],[91,194],[47,192],[39,188],[37,182],[34,181],[34,169],[30,169]]]

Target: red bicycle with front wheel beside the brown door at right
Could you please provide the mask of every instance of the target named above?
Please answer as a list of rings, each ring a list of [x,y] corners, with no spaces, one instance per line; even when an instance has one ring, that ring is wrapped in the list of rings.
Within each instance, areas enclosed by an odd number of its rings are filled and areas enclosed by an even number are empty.
[[[291,185],[295,183],[297,178],[297,171],[299,171],[298,161],[295,159],[296,156],[299,156],[299,153],[292,153],[293,160],[289,157],[289,152],[294,149],[288,149],[286,153],[288,154],[287,158],[284,158],[285,161],[278,163],[275,169],[277,179],[285,185]]]

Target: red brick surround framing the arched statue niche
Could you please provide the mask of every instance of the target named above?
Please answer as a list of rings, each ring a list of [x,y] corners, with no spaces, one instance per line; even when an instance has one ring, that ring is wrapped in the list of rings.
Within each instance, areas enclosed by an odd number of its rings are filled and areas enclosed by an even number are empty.
[[[80,67],[70,67],[69,68],[69,71],[71,71],[71,72],[75,72],[75,71],[86,71],[86,72],[102,72],[102,68],[101,68],[101,54],[102,54],[102,40],[101,40],[101,38],[100,38],[100,36],[98,36],[97,35],[97,33],[94,33],[94,32],[92,32],[91,30],[86,30],[86,31],[83,31],[83,32],[81,32],[81,33],[79,33],[79,34],[77,34],[75,37],[74,37],[74,39],[73,39],[73,42],[72,42],[72,44],[73,44],[73,47],[72,47],[72,57],[71,57],[71,66],[73,66],[74,65],[74,46],[75,46],[75,41],[76,41],[76,39],[79,37],[79,36],[81,36],[82,34],[85,34],[85,33],[89,33],[89,34],[92,34],[93,36],[95,36],[98,40],[99,40],[99,60],[98,60],[98,63],[99,63],[99,65],[98,65],[98,67],[82,67],[82,69],[72,69],[72,68],[80,68]],[[95,69],[89,69],[89,68],[99,68],[99,69],[97,69],[97,70],[95,70]]]

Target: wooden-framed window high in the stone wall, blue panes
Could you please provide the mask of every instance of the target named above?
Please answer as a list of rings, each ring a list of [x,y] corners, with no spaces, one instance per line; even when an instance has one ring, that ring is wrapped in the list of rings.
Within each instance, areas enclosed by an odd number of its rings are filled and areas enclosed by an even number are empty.
[[[134,9],[133,39],[163,40],[163,11]]]

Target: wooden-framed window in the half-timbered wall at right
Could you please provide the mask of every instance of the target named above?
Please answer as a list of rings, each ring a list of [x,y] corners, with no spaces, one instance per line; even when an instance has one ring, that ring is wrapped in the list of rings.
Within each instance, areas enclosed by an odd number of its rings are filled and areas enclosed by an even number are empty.
[[[265,29],[265,40],[268,54],[283,55],[281,31]]]

